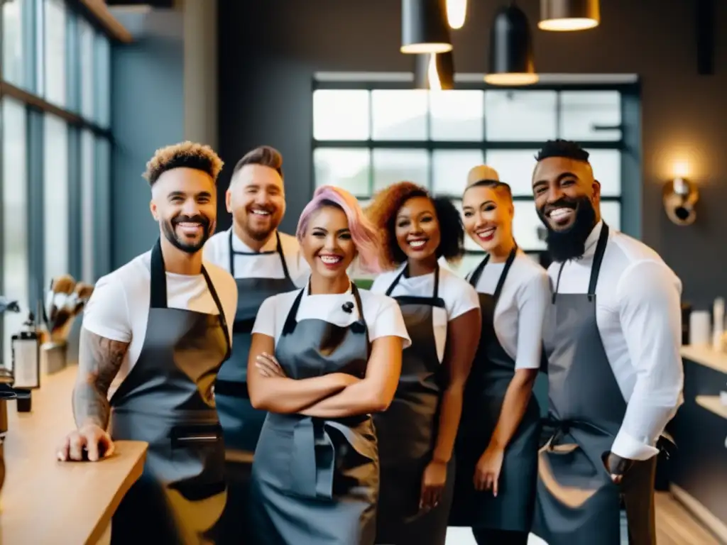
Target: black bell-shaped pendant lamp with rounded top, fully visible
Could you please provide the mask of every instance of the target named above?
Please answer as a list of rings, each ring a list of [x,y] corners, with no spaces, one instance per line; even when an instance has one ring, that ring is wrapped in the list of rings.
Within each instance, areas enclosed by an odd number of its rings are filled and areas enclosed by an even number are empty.
[[[537,83],[533,41],[528,18],[510,5],[495,14],[490,32],[490,65],[485,81],[491,85],[531,85]]]

